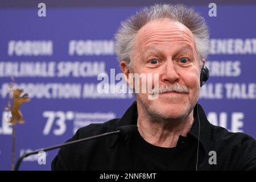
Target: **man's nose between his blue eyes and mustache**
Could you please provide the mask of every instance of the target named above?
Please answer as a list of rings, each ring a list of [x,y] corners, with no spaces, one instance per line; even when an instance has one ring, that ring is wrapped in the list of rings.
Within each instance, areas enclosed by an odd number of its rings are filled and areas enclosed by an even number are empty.
[[[179,80],[177,68],[173,60],[167,60],[166,63],[164,63],[159,75],[160,80],[163,82],[174,83]]]

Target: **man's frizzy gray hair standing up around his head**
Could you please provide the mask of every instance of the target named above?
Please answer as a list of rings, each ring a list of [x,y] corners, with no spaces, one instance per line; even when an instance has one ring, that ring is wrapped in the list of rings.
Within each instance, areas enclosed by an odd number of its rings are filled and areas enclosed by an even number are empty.
[[[170,18],[174,22],[184,24],[194,36],[199,59],[207,58],[210,41],[209,29],[204,18],[184,5],[162,4],[146,7],[121,23],[121,27],[115,34],[115,54],[118,61],[126,61],[130,69],[137,32],[148,22],[163,18]]]

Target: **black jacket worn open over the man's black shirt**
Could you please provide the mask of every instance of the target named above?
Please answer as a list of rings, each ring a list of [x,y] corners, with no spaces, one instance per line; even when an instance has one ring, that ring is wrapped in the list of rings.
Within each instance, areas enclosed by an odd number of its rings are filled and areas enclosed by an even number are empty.
[[[195,121],[191,130],[187,137],[179,137],[168,170],[196,169],[199,133],[196,107],[193,116]],[[137,103],[134,102],[121,119],[82,127],[68,141],[114,131],[119,126],[136,125],[137,118]],[[199,170],[256,170],[256,141],[253,138],[210,124],[200,105],[199,118]],[[209,164],[213,155],[210,151],[216,152],[217,164]],[[62,147],[52,161],[52,170],[132,170],[130,134],[125,137],[111,135]]]

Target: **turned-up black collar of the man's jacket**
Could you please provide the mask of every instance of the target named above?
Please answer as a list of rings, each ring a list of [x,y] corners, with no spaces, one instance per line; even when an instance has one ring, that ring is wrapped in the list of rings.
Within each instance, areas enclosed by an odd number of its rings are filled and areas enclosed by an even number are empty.
[[[204,147],[205,152],[208,154],[208,147],[209,146],[209,133],[210,133],[210,125],[203,108],[201,105],[198,104],[199,109],[199,118],[200,118],[200,144]],[[193,125],[188,132],[188,136],[193,137],[195,139],[198,139],[199,136],[199,120],[197,117],[197,105],[195,106],[193,110],[193,117],[195,118]],[[137,119],[138,119],[138,110],[137,110],[137,102],[134,101],[133,104],[127,109],[126,113],[123,115],[121,119],[119,119],[117,122],[117,127],[119,126],[125,126],[125,125],[137,125]],[[117,142],[118,136],[115,135],[112,138],[112,144],[113,147],[114,144]]]

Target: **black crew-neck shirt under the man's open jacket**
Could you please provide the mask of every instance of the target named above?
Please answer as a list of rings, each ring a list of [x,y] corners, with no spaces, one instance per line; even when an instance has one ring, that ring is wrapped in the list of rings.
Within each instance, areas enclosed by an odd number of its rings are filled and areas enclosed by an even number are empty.
[[[131,136],[133,170],[168,170],[174,150],[146,142],[137,131]]]

